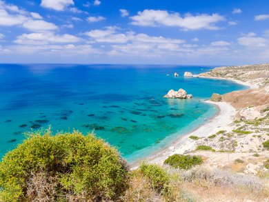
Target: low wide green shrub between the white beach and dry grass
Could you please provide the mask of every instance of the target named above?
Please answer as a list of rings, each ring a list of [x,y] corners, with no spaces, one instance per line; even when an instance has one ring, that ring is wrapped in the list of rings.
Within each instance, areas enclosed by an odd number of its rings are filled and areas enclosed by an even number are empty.
[[[189,170],[192,166],[201,165],[203,160],[201,159],[201,156],[174,154],[169,156],[164,163],[171,165],[173,168]]]

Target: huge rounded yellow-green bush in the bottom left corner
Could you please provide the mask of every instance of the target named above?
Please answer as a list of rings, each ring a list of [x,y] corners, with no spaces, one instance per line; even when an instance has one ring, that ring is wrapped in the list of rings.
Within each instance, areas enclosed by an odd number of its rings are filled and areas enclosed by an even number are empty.
[[[0,162],[0,201],[116,200],[127,179],[117,150],[91,134],[29,134]]]

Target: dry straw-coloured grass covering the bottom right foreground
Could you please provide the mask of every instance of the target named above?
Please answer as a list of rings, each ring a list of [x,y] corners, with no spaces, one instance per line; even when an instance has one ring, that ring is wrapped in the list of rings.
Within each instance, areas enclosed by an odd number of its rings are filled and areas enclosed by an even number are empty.
[[[166,196],[134,171],[123,201],[269,201],[268,179],[206,168],[166,170],[170,175],[170,192]]]

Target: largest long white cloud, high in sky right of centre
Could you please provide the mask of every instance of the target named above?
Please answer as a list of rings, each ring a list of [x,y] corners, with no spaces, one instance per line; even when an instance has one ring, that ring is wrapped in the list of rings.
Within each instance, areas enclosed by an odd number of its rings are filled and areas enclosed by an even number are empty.
[[[135,26],[170,26],[179,27],[183,30],[217,30],[215,23],[224,21],[225,18],[219,14],[186,14],[181,17],[178,12],[168,13],[166,10],[143,10],[136,16],[130,17]]]

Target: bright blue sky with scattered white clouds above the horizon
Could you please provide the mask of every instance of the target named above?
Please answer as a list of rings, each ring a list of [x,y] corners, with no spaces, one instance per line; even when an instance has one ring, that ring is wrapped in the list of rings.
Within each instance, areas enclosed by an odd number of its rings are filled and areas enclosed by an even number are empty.
[[[268,62],[268,0],[0,0],[0,63]]]

